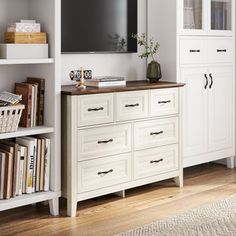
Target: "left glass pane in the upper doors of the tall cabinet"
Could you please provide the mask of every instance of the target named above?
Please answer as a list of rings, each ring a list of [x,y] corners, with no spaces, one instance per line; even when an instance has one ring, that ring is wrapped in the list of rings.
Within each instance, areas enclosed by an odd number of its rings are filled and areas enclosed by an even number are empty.
[[[203,0],[184,0],[184,30],[203,30]]]

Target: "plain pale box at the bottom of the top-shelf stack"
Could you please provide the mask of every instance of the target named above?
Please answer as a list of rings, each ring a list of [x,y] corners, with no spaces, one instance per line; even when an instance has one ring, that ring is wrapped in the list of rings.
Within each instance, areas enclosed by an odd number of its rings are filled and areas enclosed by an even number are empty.
[[[48,44],[0,44],[1,59],[48,58]]]

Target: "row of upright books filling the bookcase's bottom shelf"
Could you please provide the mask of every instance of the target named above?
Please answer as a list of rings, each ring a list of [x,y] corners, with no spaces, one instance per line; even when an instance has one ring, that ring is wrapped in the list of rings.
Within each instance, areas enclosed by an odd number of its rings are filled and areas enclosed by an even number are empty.
[[[0,199],[49,191],[50,139],[0,142]]]

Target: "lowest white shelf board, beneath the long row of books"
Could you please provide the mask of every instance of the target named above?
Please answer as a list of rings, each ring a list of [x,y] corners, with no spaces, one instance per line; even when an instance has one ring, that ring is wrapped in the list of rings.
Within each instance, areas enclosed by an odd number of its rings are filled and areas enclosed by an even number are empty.
[[[10,198],[8,200],[0,200],[0,211],[4,211],[7,209],[12,209],[15,207],[21,207],[37,202],[47,201],[50,199],[55,199],[60,197],[61,192],[38,192],[31,194],[23,194],[21,196],[17,196],[15,198]]]

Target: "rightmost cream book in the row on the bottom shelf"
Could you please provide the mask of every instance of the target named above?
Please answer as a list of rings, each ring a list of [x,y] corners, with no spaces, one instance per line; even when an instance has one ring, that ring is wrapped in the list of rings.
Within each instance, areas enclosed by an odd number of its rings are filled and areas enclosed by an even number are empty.
[[[51,140],[45,138],[44,191],[49,191],[50,189],[50,163],[51,163]]]

